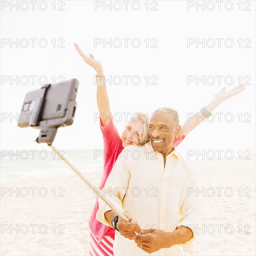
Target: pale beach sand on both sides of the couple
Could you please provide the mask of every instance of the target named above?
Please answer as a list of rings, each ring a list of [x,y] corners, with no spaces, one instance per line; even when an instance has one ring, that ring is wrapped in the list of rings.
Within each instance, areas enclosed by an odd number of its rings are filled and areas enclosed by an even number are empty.
[[[255,255],[255,156],[251,158],[192,162],[205,189],[196,255]],[[85,175],[97,185],[101,171]],[[10,196],[11,188],[18,188],[18,196]],[[70,175],[2,178],[1,189],[1,255],[88,255],[95,197],[71,169]]]

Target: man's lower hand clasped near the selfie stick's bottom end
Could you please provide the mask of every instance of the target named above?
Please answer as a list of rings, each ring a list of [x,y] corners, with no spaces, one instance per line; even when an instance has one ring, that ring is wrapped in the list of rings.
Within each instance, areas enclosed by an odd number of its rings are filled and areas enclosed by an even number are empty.
[[[138,247],[148,253],[170,247],[168,234],[162,229],[141,229],[141,235],[135,238]]]

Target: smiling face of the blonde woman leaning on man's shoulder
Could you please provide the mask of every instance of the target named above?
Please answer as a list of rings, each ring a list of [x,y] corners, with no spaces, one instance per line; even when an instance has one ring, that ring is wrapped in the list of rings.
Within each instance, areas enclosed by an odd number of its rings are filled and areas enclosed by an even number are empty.
[[[128,121],[126,128],[122,134],[122,146],[123,148],[134,145],[136,141],[140,141],[141,128],[143,126],[142,121],[135,122],[132,119]]]

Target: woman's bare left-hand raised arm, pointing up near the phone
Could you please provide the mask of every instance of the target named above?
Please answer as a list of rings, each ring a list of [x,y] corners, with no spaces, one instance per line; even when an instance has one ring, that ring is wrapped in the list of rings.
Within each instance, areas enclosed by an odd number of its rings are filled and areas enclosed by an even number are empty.
[[[80,54],[82,59],[91,67],[93,67],[96,70],[97,73],[97,80],[98,81],[104,81],[103,80],[103,67],[100,61],[97,61],[94,59],[93,54],[90,54],[87,56],[84,54],[80,47],[77,44],[74,44],[77,52]],[[101,122],[103,126],[107,126],[108,123],[112,120],[111,110],[110,110],[110,103],[108,99],[108,92],[107,87],[104,86],[97,86],[97,105],[99,112],[101,114]]]

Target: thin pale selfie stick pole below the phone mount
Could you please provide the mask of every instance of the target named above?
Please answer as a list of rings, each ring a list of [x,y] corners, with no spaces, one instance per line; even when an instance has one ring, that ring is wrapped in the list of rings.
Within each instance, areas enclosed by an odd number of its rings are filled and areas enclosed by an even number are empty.
[[[64,160],[64,162],[67,163],[67,165],[90,187],[90,189],[92,189],[94,191],[94,193],[96,193],[99,197],[101,197],[101,199],[108,204],[109,207],[111,207],[111,209],[113,209],[113,211],[119,216],[121,217],[121,219],[126,223],[126,222],[130,222],[130,220],[122,213],[119,211],[119,209],[117,209],[110,200],[108,200],[108,198],[104,197],[104,195],[101,193],[101,191],[95,191],[94,188],[94,184],[88,180],[86,177],[84,177],[81,172],[74,167],[74,165],[67,159],[67,157],[64,157],[63,155],[61,155],[61,153],[59,153],[58,149],[55,148],[53,146],[53,144],[49,145],[49,147],[51,147],[54,152],[59,155],[61,157],[61,159]]]

